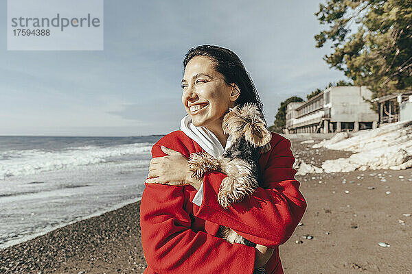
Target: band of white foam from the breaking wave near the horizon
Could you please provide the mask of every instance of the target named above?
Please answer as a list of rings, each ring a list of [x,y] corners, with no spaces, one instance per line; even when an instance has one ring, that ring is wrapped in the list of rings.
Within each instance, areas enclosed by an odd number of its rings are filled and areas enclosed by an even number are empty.
[[[135,143],[115,147],[71,147],[61,151],[39,149],[9,150],[1,152],[0,180],[12,176],[24,176],[70,169],[106,162],[113,157],[138,155],[150,151],[152,144]]]

